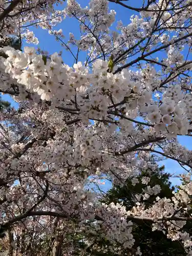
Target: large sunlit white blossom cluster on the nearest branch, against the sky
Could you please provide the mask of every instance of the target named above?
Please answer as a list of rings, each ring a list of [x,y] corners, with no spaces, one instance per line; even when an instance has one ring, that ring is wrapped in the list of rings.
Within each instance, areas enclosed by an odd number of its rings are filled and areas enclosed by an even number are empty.
[[[4,89],[15,82],[23,100],[31,93],[32,100],[52,101],[52,106],[57,108],[60,103],[66,105],[75,98],[75,111],[80,112],[83,120],[101,120],[110,114],[110,104],[113,106],[126,98],[126,115],[135,118],[138,111],[147,113],[146,118],[157,134],[173,138],[188,133],[191,96],[184,94],[179,85],[174,91],[168,88],[161,104],[157,104],[152,99],[152,87],[146,88],[142,80],[132,81],[133,73],[126,70],[120,74],[108,73],[108,61],[96,60],[93,73],[89,73],[81,62],[73,68],[62,64],[57,53],[44,61],[41,55],[35,54],[34,48],[25,47],[24,53],[9,47],[4,51],[8,58],[2,58],[1,66],[11,78],[2,77]]]

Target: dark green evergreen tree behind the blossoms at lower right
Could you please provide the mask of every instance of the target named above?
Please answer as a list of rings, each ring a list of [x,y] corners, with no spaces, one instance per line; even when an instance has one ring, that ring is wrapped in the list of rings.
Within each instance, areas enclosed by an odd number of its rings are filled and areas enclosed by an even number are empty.
[[[163,172],[164,166],[159,169],[159,172],[150,173],[143,172],[138,178],[140,181],[143,176],[150,176],[151,181],[148,185],[153,187],[159,184],[161,186],[161,193],[158,195],[160,198],[172,198],[174,187],[171,187],[169,182],[169,175]],[[123,187],[116,186],[112,188],[107,193],[104,202],[106,203],[119,203],[126,207],[127,210],[135,206],[134,195],[141,194],[142,189],[146,188],[147,185],[141,182],[137,183],[135,186],[132,185],[131,180],[127,180]],[[157,196],[151,196],[149,199],[145,200],[146,207],[150,207],[156,200]],[[141,199],[142,202],[142,199]],[[152,231],[152,223],[144,222],[141,220],[134,220],[133,235],[135,241],[134,247],[138,246],[141,248],[143,256],[184,256],[186,255],[181,243],[179,241],[172,241],[167,239],[166,233],[162,231]],[[191,229],[191,225],[187,224],[187,229]]]

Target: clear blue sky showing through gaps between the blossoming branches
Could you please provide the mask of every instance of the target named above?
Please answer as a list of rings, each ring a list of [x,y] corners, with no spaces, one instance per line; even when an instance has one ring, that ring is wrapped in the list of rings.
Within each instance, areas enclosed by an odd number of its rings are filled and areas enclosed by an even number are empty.
[[[89,5],[89,0],[79,0],[78,3],[82,6],[88,6]],[[140,7],[142,5],[141,0],[129,0],[125,2],[127,5],[134,6],[134,7]],[[63,9],[66,6],[66,3],[64,3],[62,6],[59,6],[57,9]],[[109,4],[110,9],[114,9],[116,11],[116,19],[117,20],[122,20],[124,25],[128,25],[130,23],[130,17],[133,14],[137,14],[134,11],[128,10],[126,8],[122,8],[121,6],[115,4],[115,3],[110,3]],[[113,25],[112,29],[115,29],[116,24]],[[69,33],[72,32],[74,33],[75,36],[79,37],[79,29],[78,29],[78,23],[75,19],[73,18],[66,18],[61,24],[58,24],[54,28],[55,30],[62,29],[63,34],[65,35],[65,39],[69,38]],[[73,65],[73,59],[71,57],[71,54],[69,52],[66,52],[60,45],[58,41],[55,40],[55,37],[53,35],[49,35],[47,30],[43,29],[36,29],[30,27],[30,30],[33,30],[35,33],[35,36],[39,40],[39,45],[35,47],[39,47],[41,50],[48,51],[49,54],[52,54],[54,52],[59,52],[63,50],[62,53],[62,58],[65,63],[68,65]],[[24,44],[28,46],[32,46],[29,44]],[[80,59],[83,61],[83,59]],[[3,96],[4,99],[8,99],[12,102],[13,106],[16,106],[15,102],[12,100],[11,97],[5,95]],[[189,150],[192,150],[192,138],[189,136],[178,136],[179,142],[186,146]],[[175,174],[180,174],[183,173],[183,169],[181,166],[173,161],[173,160],[164,160],[160,162],[161,165],[165,165],[165,170],[166,172],[170,173],[175,173]],[[172,179],[172,183],[175,185],[178,183],[178,179]],[[106,190],[109,187],[109,185],[105,185],[104,190]]]

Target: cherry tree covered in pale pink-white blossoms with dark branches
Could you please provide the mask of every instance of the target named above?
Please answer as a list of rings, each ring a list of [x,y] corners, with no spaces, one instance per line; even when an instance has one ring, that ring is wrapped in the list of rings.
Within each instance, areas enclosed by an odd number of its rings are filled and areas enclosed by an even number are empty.
[[[116,20],[109,2],[133,11],[130,24]],[[0,233],[8,232],[9,255],[33,255],[46,237],[48,255],[84,255],[98,236],[113,254],[141,255],[135,220],[179,240],[191,255],[185,225],[192,220],[192,153],[178,136],[192,132],[192,2],[148,0],[140,8],[121,0],[91,0],[88,7],[75,0],[0,4],[0,92],[19,105],[0,112]],[[78,22],[79,38],[71,32],[66,40],[62,29],[54,30],[66,17]],[[60,53],[4,46],[10,37],[38,44],[33,26],[71,53],[73,67]],[[156,184],[133,192],[129,210],[101,203],[100,179],[134,185],[147,171],[146,184],[160,158],[183,168],[172,198],[160,198]]]

